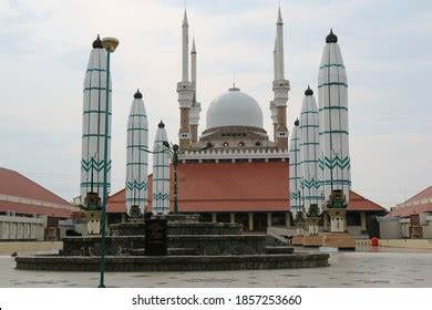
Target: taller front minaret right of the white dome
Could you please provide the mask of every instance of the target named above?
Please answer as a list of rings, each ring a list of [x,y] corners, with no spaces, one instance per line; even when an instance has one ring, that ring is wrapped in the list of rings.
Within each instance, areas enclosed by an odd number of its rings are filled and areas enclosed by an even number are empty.
[[[287,101],[289,91],[289,81],[285,80],[284,73],[284,22],[278,10],[278,20],[276,22],[276,59],[277,70],[276,80],[272,82],[272,91],[275,92],[275,106],[277,108],[277,128],[276,128],[276,146],[279,149],[288,148],[288,128],[287,128]]]

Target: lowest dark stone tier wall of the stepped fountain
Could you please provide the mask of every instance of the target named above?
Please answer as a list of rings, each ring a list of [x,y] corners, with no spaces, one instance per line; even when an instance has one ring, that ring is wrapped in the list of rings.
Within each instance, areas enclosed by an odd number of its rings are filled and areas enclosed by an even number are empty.
[[[106,257],[105,270],[204,271],[316,268],[328,266],[328,254]],[[99,257],[17,257],[17,269],[50,271],[97,271]]]

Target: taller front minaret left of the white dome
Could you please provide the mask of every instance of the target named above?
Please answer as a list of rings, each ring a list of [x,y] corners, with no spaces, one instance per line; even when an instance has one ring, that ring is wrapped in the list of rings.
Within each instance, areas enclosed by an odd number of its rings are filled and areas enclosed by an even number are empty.
[[[181,127],[178,132],[179,146],[187,148],[191,145],[191,121],[189,113],[192,102],[194,100],[194,86],[189,82],[189,25],[187,23],[187,14],[183,18],[182,25],[182,82],[177,83],[178,103],[181,108]]]

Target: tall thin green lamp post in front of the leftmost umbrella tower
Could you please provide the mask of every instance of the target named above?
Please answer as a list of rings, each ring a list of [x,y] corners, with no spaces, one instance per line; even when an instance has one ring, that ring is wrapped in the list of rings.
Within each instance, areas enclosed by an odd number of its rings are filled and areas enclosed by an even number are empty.
[[[105,140],[104,140],[104,165],[103,165],[103,196],[102,196],[102,218],[101,218],[101,261],[99,288],[105,288],[105,254],[106,254],[106,200],[107,200],[107,149],[109,149],[109,106],[110,106],[110,55],[119,45],[115,38],[102,39],[102,46],[106,51],[106,89],[105,89]]]

